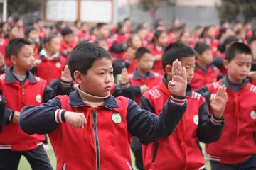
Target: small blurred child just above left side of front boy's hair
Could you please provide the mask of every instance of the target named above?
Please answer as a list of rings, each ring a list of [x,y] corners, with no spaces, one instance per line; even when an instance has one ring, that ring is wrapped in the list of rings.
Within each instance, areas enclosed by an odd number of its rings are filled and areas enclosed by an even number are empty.
[[[71,50],[73,50],[76,45],[73,30],[70,28],[63,28],[60,33],[63,38],[60,42],[60,55],[68,59]]]

